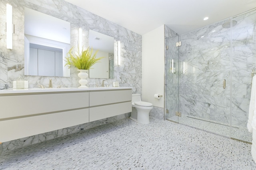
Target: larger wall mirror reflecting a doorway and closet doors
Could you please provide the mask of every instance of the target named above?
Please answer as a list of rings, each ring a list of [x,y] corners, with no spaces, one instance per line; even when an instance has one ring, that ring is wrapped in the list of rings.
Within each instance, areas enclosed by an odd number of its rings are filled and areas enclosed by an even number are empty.
[[[25,8],[24,75],[70,77],[70,23]]]

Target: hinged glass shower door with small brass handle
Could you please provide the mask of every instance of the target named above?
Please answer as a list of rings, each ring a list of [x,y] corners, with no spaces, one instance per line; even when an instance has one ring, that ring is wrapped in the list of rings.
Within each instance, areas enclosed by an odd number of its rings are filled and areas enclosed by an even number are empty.
[[[179,123],[230,136],[230,18],[180,35]]]

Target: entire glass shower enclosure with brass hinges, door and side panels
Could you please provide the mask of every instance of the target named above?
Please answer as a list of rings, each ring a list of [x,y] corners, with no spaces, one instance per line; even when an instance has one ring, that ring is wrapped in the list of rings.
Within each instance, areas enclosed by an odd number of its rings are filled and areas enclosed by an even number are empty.
[[[165,119],[251,142],[256,10],[182,35],[165,27]]]

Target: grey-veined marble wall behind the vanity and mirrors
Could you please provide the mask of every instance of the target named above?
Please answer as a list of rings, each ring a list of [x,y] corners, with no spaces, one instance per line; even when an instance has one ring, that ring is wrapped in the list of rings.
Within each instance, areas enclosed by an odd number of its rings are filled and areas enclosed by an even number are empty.
[[[6,49],[6,3],[12,5],[13,23],[13,49]],[[60,18],[70,22],[70,46],[76,47],[78,42],[78,28],[83,30],[83,43],[88,47],[89,29],[114,37],[114,53],[117,53],[117,41],[121,42],[121,66],[114,62],[114,78],[107,79],[106,84],[119,81],[120,86],[132,87],[133,93],[142,92],[142,36],[120,25],[112,23],[104,18],[96,16],[78,6],[74,6],[64,0],[1,0],[0,1],[0,89],[12,88],[12,81],[19,74],[24,75],[24,7]],[[77,69],[71,69],[70,77],[24,76],[28,80],[30,88],[38,85],[48,86],[52,78],[53,87],[78,87]],[[116,80],[117,75],[120,80]],[[100,84],[102,79],[90,78],[89,86]],[[86,123],[75,127],[60,129],[24,139],[10,141],[0,145],[0,152],[12,150],[22,146],[53,139],[66,134],[75,133],[83,129],[95,127],[104,123],[116,121],[128,117],[129,113]],[[17,127],[18,128],[18,127]]]

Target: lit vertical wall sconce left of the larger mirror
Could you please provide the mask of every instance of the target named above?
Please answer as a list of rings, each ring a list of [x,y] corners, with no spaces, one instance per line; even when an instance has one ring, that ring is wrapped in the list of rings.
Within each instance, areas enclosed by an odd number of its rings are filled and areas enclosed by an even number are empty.
[[[14,25],[12,24],[12,6],[6,4],[6,47],[12,50],[12,33],[14,33]]]

